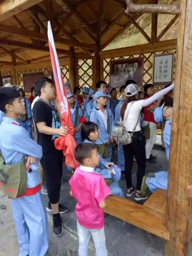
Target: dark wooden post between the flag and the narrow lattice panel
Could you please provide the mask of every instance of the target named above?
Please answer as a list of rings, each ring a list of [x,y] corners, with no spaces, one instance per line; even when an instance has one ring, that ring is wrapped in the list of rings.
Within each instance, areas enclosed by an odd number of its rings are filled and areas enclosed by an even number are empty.
[[[73,88],[75,86],[78,86],[77,84],[77,76],[76,72],[78,72],[78,69],[76,69],[76,61],[75,61],[75,53],[74,53],[74,47],[70,46],[70,60],[69,60],[69,82],[71,84],[71,91],[73,92]]]

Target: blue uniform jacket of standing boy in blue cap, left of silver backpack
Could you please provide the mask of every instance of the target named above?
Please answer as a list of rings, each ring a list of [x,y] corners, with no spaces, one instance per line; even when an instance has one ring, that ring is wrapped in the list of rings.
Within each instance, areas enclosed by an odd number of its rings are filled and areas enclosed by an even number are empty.
[[[115,121],[113,119],[113,114],[110,110],[110,108],[106,107],[107,110],[107,119],[109,118],[110,123],[110,132],[107,133],[107,129],[104,125],[103,120],[101,119],[100,114],[98,113],[97,108],[93,108],[90,115],[90,121],[94,122],[98,125],[99,128],[99,139],[95,141],[96,144],[105,144],[109,141],[109,137],[113,135],[113,128],[115,126]]]

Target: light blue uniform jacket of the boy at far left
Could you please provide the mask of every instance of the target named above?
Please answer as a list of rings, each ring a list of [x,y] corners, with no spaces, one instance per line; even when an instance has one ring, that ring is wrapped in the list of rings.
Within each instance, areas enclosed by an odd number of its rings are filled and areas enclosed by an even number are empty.
[[[16,164],[25,155],[35,157],[37,160],[42,157],[41,146],[31,139],[25,128],[9,117],[3,117],[0,125],[0,149],[5,164]],[[30,167],[32,172],[27,171],[27,188],[36,187],[41,182],[38,161]]]

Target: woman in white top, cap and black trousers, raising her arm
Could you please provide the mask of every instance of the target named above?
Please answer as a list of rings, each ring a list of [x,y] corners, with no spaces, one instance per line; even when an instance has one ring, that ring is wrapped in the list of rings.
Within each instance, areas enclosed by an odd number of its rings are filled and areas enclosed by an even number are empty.
[[[127,184],[127,196],[131,197],[135,193],[135,200],[140,201],[146,199],[148,196],[141,194],[140,187],[142,182],[142,177],[145,175],[146,168],[146,152],[145,152],[145,136],[143,136],[140,127],[140,112],[143,107],[148,106],[152,102],[158,100],[167,92],[171,91],[174,88],[174,83],[157,93],[152,97],[139,100],[135,98],[135,95],[138,93],[139,87],[136,84],[129,84],[125,93],[127,98],[122,104],[120,116],[122,119],[123,125],[127,128],[128,132],[134,131],[132,136],[132,142],[127,145],[123,145],[124,155],[125,155],[125,179]],[[133,156],[137,160],[138,170],[137,170],[137,188],[133,188],[131,180],[131,171],[133,165]]]

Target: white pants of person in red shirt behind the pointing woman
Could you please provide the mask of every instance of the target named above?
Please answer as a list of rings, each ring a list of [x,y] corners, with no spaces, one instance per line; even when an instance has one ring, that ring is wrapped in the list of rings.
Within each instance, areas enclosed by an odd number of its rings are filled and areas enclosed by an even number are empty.
[[[148,125],[148,123],[150,128],[150,139],[146,140],[146,145],[145,145],[146,159],[149,159],[157,138],[157,125],[153,122],[143,121],[143,126]]]

